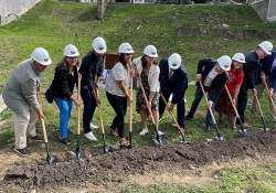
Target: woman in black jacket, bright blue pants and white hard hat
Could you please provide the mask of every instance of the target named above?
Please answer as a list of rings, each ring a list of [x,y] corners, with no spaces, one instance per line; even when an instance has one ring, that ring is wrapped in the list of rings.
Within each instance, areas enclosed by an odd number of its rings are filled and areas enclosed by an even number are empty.
[[[68,120],[73,103],[79,107],[79,101],[74,97],[73,90],[81,75],[77,73],[78,51],[75,45],[64,47],[63,60],[56,65],[51,89],[55,93],[54,101],[60,109],[60,137],[63,144],[71,144],[67,139]]]

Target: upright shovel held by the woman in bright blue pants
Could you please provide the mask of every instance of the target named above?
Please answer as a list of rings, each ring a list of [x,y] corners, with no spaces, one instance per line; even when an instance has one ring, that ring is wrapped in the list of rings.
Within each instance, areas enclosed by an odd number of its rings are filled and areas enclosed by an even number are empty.
[[[79,101],[79,90],[81,90],[81,77],[79,77],[79,74],[78,74],[78,78],[77,78],[77,101]],[[86,156],[85,156],[85,151],[82,150],[79,148],[79,119],[81,119],[81,116],[79,116],[79,106],[77,106],[76,108],[76,111],[77,111],[77,130],[76,130],[76,138],[77,138],[77,142],[76,142],[76,150],[75,151],[71,151],[71,159],[72,161],[78,161],[81,159],[85,159]]]

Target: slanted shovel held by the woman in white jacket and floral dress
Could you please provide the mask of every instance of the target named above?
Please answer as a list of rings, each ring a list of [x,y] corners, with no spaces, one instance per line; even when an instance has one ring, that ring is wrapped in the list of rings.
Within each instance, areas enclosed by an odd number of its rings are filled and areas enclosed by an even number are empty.
[[[135,65],[134,65],[135,66]],[[136,67],[136,66],[135,66]],[[136,69],[137,71],[137,69]],[[148,99],[147,99],[147,96],[146,96],[146,93],[145,93],[145,89],[144,89],[144,86],[142,86],[142,83],[141,83],[141,78],[140,78],[140,75],[138,76],[138,79],[139,79],[139,85],[141,87],[141,92],[142,92],[142,96],[145,98],[145,101],[146,101],[146,105],[147,105],[147,108],[149,110],[149,115],[150,115],[150,118],[152,120],[152,125],[155,127],[155,131],[156,131],[156,139],[153,139],[155,143],[158,144],[158,146],[166,146],[168,144],[168,141],[162,137],[162,136],[159,136],[158,135],[158,130],[157,130],[157,127],[156,127],[156,121],[155,121],[155,118],[153,118],[153,115],[151,112],[151,109],[149,108],[148,104]]]

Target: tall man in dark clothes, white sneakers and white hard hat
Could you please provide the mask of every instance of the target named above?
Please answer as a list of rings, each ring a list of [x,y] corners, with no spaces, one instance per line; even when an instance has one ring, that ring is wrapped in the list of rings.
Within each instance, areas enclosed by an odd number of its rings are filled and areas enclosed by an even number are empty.
[[[96,107],[100,104],[97,95],[99,77],[104,71],[104,60],[106,53],[106,42],[103,37],[94,39],[92,43],[93,50],[88,52],[82,60],[79,73],[82,75],[81,96],[84,103],[83,128],[84,136],[92,141],[97,138],[91,130],[91,122]]]

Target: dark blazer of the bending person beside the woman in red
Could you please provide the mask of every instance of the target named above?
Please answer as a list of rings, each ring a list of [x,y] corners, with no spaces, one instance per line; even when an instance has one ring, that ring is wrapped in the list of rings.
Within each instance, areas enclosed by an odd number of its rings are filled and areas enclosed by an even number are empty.
[[[202,83],[204,83],[205,77],[214,68],[216,63],[217,62],[211,57],[206,57],[199,61],[197,74],[202,75]],[[226,72],[217,74],[215,76],[215,78],[211,83],[211,86],[208,88],[209,100],[215,101],[217,99],[227,79],[229,74]],[[199,83],[197,84],[199,86]]]

